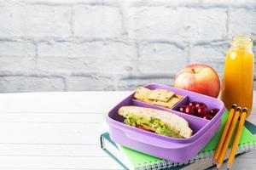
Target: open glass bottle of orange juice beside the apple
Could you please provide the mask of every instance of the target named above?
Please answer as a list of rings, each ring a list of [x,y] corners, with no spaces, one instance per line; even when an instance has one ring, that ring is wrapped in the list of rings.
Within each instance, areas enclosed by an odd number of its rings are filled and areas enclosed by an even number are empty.
[[[225,66],[221,99],[230,110],[232,104],[247,107],[250,115],[253,105],[253,41],[249,37],[236,36],[230,42]]]

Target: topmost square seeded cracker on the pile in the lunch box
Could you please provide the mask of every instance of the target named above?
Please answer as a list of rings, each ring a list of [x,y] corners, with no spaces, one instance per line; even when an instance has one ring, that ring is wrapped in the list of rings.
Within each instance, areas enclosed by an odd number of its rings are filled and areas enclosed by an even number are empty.
[[[173,92],[157,88],[153,90],[153,93],[148,96],[148,99],[167,102],[169,99],[172,98],[173,95],[174,95]]]

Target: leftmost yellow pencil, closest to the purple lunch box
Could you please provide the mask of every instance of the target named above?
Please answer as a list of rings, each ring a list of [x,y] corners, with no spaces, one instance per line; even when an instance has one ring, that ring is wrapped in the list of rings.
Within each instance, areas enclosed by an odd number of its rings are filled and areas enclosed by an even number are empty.
[[[218,160],[218,156],[219,156],[220,150],[222,149],[222,146],[223,146],[223,144],[224,144],[224,140],[225,140],[225,138],[226,138],[226,136],[227,136],[227,133],[228,133],[228,130],[229,130],[229,128],[230,128],[230,124],[231,124],[231,122],[232,122],[234,113],[235,113],[235,111],[236,111],[236,107],[237,107],[236,104],[233,104],[233,105],[232,105],[232,108],[231,108],[231,110],[230,110],[230,115],[229,115],[229,117],[228,117],[228,119],[227,119],[227,122],[226,122],[226,124],[225,124],[224,130],[223,130],[223,132],[222,132],[222,134],[221,134],[221,137],[220,137],[220,139],[219,139],[219,141],[218,141],[218,147],[217,147],[217,149],[215,150],[215,153],[214,153],[214,156],[213,156],[213,160],[212,160],[213,164],[216,163],[217,160]]]

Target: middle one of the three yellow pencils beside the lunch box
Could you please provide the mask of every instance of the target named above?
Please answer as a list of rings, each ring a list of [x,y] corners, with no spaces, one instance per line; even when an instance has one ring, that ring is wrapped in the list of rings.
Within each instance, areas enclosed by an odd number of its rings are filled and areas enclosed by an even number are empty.
[[[217,169],[219,167],[221,167],[223,161],[224,161],[224,156],[226,155],[226,152],[228,150],[228,147],[230,145],[230,140],[232,138],[232,135],[234,133],[234,130],[235,130],[235,127],[236,127],[236,122],[240,116],[240,112],[241,112],[241,107],[237,107],[236,108],[236,113],[235,113],[235,116],[231,122],[231,126],[230,126],[230,129],[229,129],[229,133],[227,135],[227,138],[225,139],[225,142],[224,142],[224,146],[219,154],[219,157],[218,157],[218,163],[217,163]]]

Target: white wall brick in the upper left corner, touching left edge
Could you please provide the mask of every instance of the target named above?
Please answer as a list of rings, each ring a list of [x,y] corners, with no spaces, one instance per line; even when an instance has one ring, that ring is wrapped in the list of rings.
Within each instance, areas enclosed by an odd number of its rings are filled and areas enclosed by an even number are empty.
[[[47,5],[0,6],[1,37],[68,37],[71,8]]]

